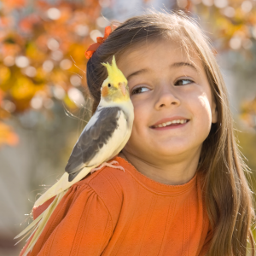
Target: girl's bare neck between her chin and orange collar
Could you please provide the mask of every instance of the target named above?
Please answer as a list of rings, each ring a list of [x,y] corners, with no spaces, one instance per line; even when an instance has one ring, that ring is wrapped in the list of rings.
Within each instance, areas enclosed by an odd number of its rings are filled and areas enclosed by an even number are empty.
[[[195,155],[185,158],[185,160],[170,160],[166,162],[148,162],[126,151],[125,148],[119,153],[120,157],[130,162],[138,172],[141,172],[146,177],[153,179],[159,183],[167,185],[182,185],[188,183],[195,176],[197,171],[198,161],[201,150]]]

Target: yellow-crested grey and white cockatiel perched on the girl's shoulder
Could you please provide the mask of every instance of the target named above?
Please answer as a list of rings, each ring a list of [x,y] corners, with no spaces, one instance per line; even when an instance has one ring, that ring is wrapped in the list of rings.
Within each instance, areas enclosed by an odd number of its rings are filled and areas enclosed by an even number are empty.
[[[102,63],[102,65],[107,67],[108,78],[103,81],[101,101],[96,108],[96,112],[84,127],[75,144],[65,168],[66,172],[57,183],[38,198],[35,206],[42,205],[56,195],[55,200],[32,224],[29,224],[25,230],[15,237],[15,239],[19,238],[29,230],[30,232],[26,236],[34,233],[32,241],[30,241],[23,256],[26,256],[32,250],[51,213],[73,183],[79,182],[89,172],[95,172],[101,169],[102,166],[112,166],[124,170],[121,166],[113,166],[113,164],[118,164],[116,161],[111,163],[107,163],[107,161],[119,154],[131,136],[134,119],[133,105],[127,80],[117,67],[114,56],[112,66],[108,62],[107,64]],[[100,167],[96,168],[97,166]]]

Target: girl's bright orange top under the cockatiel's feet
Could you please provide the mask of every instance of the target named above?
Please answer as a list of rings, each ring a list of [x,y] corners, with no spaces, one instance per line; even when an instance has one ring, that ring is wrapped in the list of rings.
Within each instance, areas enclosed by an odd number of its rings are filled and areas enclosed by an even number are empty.
[[[201,174],[183,185],[166,185],[123,158],[113,160],[125,172],[103,167],[73,184],[28,255],[206,255],[212,231]],[[51,201],[34,209],[34,218]]]

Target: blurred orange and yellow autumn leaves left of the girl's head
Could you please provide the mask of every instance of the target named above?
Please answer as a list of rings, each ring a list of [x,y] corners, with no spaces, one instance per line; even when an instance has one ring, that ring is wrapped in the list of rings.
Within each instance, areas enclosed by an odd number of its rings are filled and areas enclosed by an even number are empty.
[[[92,38],[102,35],[96,25],[101,11],[96,0],[55,6],[43,1],[28,5],[25,0],[2,4],[0,146],[18,143],[6,123],[12,116],[31,108],[50,112],[58,102],[69,109],[84,104],[84,52]]]

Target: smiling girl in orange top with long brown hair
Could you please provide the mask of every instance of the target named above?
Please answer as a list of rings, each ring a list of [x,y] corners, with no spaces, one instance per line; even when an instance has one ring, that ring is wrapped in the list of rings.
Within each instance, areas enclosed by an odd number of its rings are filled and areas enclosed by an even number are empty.
[[[247,241],[253,255],[247,166],[207,38],[182,14],[126,20],[88,61],[93,111],[113,55],[135,113],[114,158],[125,172],[103,167],[75,183],[28,255],[245,256]]]

